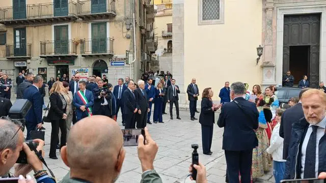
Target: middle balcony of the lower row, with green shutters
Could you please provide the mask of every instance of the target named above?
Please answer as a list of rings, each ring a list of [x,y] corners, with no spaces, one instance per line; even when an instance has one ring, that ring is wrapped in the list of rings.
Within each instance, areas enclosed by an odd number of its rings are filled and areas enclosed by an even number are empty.
[[[77,57],[77,43],[73,40],[41,41],[40,57]]]

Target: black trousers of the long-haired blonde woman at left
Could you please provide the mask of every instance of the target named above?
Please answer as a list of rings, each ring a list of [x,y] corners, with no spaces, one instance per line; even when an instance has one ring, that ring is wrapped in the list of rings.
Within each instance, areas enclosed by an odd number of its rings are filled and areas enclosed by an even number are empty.
[[[51,121],[51,143],[50,143],[50,157],[55,157],[57,145],[59,143],[59,128],[61,130],[60,148],[66,145],[67,138],[67,124],[65,119]]]

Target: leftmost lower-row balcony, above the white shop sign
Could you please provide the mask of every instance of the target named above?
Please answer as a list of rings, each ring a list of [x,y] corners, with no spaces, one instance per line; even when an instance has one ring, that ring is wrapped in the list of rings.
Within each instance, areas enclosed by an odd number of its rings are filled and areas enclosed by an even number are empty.
[[[6,58],[7,59],[30,59],[32,57],[32,44],[6,44]]]

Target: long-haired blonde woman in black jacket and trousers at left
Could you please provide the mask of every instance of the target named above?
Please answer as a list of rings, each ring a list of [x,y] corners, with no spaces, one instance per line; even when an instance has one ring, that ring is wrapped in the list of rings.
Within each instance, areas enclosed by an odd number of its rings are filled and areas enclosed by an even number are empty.
[[[56,81],[53,83],[50,90],[50,109],[47,116],[51,120],[51,144],[49,157],[51,159],[58,159],[56,155],[56,149],[58,144],[59,128],[61,130],[61,147],[66,145],[67,126],[66,126],[66,107],[67,102],[64,96],[64,86],[62,82]]]

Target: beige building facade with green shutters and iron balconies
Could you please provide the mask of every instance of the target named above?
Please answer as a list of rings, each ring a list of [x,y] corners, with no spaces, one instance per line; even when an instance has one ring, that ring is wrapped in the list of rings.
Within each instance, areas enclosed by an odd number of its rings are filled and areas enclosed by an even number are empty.
[[[149,0],[1,1],[0,69],[12,79],[25,69],[46,81],[76,72],[138,79],[142,53],[156,50],[154,14]]]

